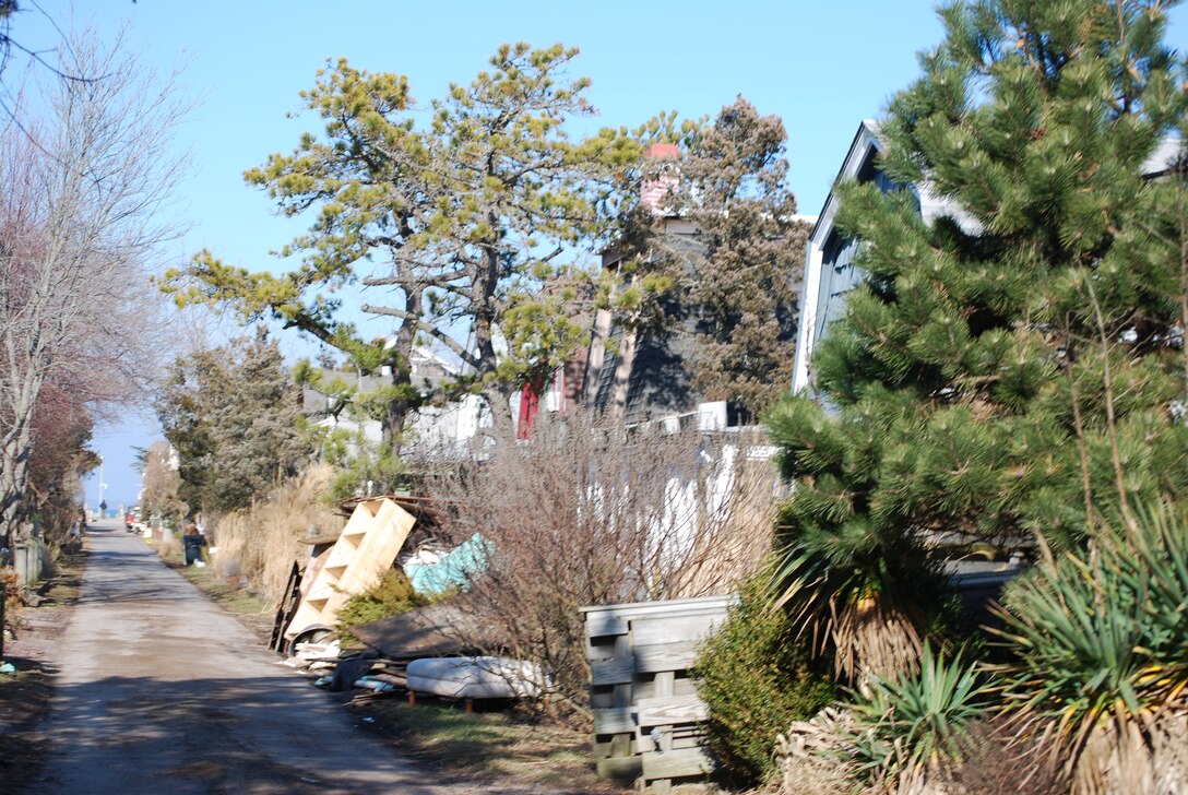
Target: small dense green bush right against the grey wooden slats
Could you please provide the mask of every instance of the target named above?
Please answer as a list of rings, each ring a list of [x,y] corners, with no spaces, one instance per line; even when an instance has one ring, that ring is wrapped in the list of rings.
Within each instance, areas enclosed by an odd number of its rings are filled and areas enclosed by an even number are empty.
[[[739,602],[704,642],[691,671],[709,707],[709,749],[742,784],[767,780],[776,736],[835,695],[832,661],[811,661],[786,613],[770,608],[770,579],[764,569],[744,583]]]

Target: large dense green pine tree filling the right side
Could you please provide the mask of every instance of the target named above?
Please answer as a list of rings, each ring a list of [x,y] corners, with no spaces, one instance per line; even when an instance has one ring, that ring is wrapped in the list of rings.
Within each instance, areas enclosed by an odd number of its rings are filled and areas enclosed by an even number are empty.
[[[1102,513],[1184,493],[1186,187],[1161,145],[1186,75],[1168,5],[942,8],[880,166],[960,212],[928,225],[908,190],[840,187],[868,278],[813,360],[830,408],[770,416],[797,481],[779,529],[795,604],[811,576],[845,575],[851,605],[915,605],[922,630],[911,579],[942,534],[1075,544]]]

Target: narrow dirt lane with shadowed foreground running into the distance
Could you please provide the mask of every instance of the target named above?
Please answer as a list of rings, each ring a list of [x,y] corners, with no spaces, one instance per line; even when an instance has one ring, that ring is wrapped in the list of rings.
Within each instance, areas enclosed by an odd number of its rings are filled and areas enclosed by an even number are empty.
[[[33,794],[476,791],[426,783],[122,524],[90,549]]]

